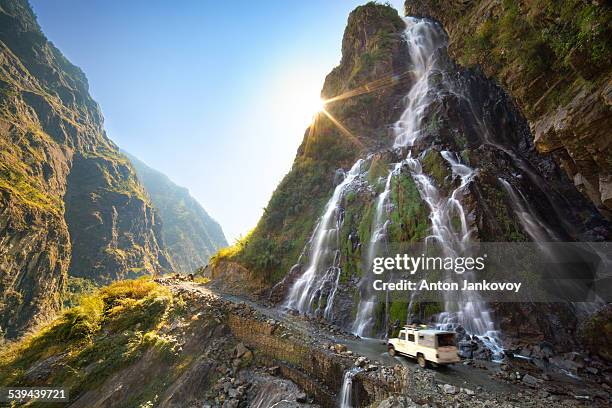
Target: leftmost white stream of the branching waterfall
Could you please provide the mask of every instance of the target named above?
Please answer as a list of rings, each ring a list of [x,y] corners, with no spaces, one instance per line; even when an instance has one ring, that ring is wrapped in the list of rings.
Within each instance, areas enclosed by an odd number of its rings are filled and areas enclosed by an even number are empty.
[[[320,312],[322,294],[331,286],[330,296],[324,310],[324,317],[330,318],[333,298],[335,296],[341,268],[339,266],[339,233],[342,226],[342,208],[340,206],[344,193],[361,173],[363,160],[357,160],[344,180],[336,186],[332,197],[325,205],[325,212],[319,220],[314,238],[310,244],[309,262],[304,273],[292,285],[285,306],[301,313]]]

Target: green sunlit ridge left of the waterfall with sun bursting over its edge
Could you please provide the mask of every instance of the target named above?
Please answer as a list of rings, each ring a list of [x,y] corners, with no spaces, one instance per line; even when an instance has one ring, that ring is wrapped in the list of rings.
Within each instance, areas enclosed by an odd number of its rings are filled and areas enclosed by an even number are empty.
[[[372,2],[350,14],[342,60],[323,86],[325,112],[306,130],[291,170],[231,256],[265,281],[278,281],[296,262],[338,182],[336,169],[391,143],[387,125],[399,114],[407,80],[403,28],[390,6]]]

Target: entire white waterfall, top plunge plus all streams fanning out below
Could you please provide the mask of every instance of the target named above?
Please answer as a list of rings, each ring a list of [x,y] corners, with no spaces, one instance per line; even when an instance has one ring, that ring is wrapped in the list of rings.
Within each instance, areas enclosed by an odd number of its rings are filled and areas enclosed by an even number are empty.
[[[457,256],[463,254],[471,239],[472,231],[462,205],[462,198],[475,171],[461,163],[455,153],[442,151],[440,154],[451,169],[453,181],[458,184],[451,192],[446,193],[439,190],[432,179],[423,172],[421,158],[412,155],[412,147],[426,131],[423,125],[426,110],[436,96],[434,88],[430,86],[430,77],[444,72],[438,63],[440,54],[438,50],[447,46],[447,38],[440,27],[432,21],[407,17],[405,22],[404,37],[413,65],[413,84],[404,98],[405,109],[393,125],[395,136],[393,147],[398,150],[408,149],[409,152],[405,160],[393,165],[393,170],[387,176],[385,189],[376,199],[372,235],[365,254],[367,266],[371,266],[372,260],[380,252],[381,244],[385,242],[389,222],[386,209],[392,178],[403,166],[408,168],[421,198],[430,211],[431,234],[427,237],[426,243],[434,242],[442,247],[447,256]],[[448,84],[443,86],[449,87]],[[454,92],[452,89],[445,91]],[[302,313],[312,313],[316,307],[315,313],[320,313],[328,319],[331,317],[341,274],[338,259],[339,230],[342,223],[340,202],[345,191],[358,179],[361,164],[362,161],[355,163],[326,204],[324,214],[317,224],[310,243],[308,266],[291,287],[286,300],[287,307]],[[453,219],[459,219],[459,225],[454,225]],[[452,273],[449,275],[451,275],[448,276],[449,279],[456,278]],[[370,279],[371,276],[366,271],[360,282],[362,292]],[[328,296],[324,310],[321,310],[325,295]],[[351,327],[355,334],[367,335],[371,332],[375,303],[374,296],[361,296],[356,318]],[[439,317],[441,327],[451,328],[460,324],[468,333],[480,336],[494,355],[501,353],[491,315],[485,302],[477,294],[445,294],[445,307],[446,312]]]

